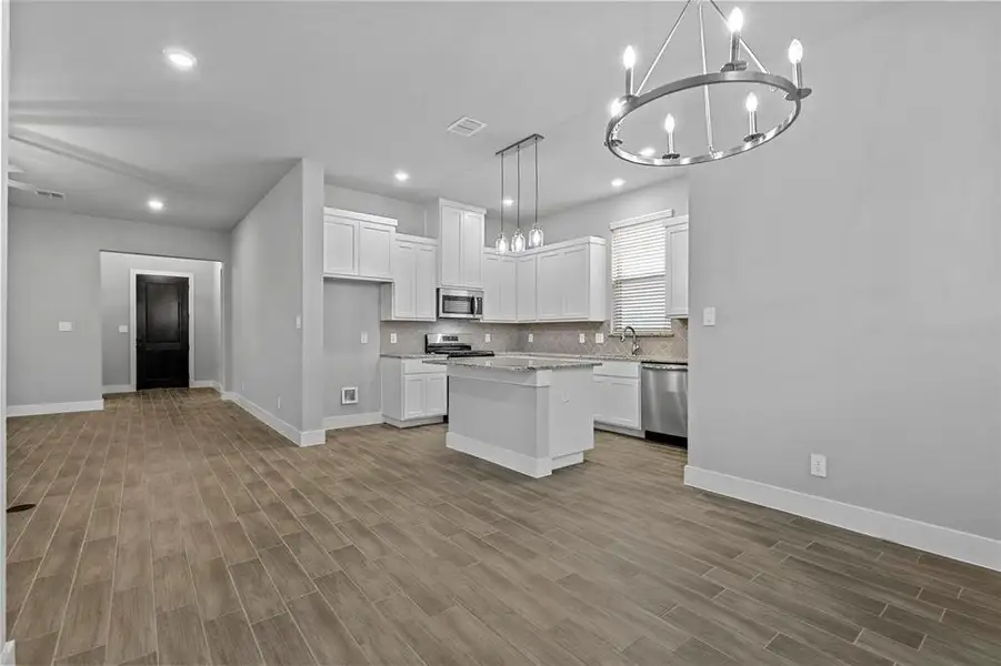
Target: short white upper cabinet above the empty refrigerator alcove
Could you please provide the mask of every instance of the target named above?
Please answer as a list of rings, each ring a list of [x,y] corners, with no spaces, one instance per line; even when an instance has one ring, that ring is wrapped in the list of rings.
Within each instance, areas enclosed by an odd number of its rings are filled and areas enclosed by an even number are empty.
[[[323,275],[391,281],[397,221],[323,209]]]

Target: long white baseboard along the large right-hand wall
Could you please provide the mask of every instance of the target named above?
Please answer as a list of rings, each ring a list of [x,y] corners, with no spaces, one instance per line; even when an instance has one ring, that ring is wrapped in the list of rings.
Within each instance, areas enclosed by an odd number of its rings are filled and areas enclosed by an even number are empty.
[[[687,465],[684,485],[1001,572],[1001,541]]]

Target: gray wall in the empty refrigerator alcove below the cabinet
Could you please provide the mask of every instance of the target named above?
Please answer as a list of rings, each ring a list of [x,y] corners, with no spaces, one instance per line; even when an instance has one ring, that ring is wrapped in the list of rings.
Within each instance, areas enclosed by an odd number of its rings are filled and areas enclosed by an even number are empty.
[[[327,416],[382,410],[379,374],[379,285],[323,281],[323,370]],[[369,342],[361,344],[361,333]],[[358,386],[358,404],[341,404],[341,387]]]

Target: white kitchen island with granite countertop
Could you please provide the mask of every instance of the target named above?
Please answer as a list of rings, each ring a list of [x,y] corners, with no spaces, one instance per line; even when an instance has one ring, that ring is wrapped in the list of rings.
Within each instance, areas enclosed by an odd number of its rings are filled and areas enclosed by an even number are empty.
[[[594,447],[594,367],[539,356],[430,360],[448,366],[446,446],[533,478]]]

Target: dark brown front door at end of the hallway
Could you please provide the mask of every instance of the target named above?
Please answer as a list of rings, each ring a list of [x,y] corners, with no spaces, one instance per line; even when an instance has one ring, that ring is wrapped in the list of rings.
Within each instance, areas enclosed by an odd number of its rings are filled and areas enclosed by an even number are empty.
[[[136,389],[188,386],[188,279],[136,275]]]

